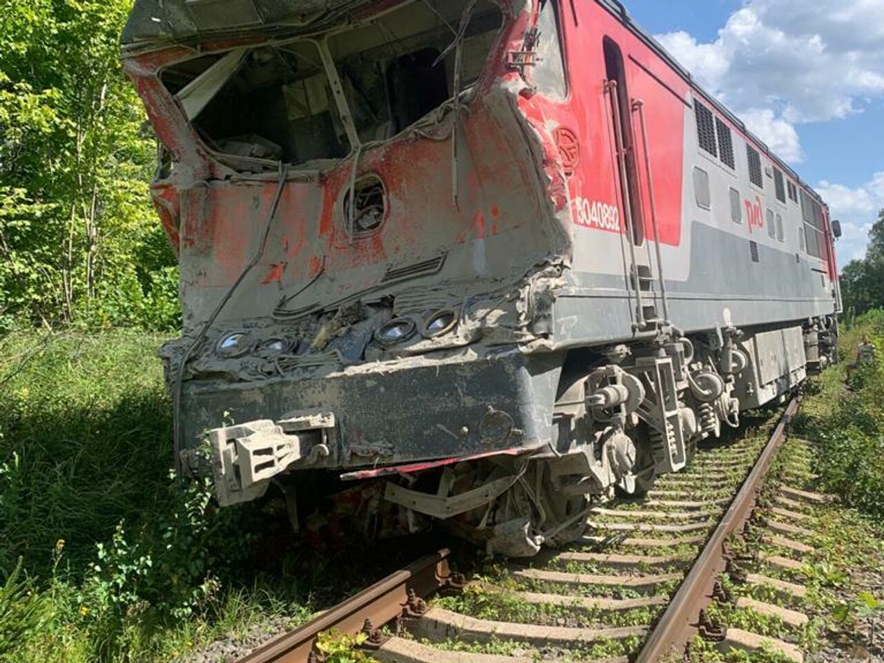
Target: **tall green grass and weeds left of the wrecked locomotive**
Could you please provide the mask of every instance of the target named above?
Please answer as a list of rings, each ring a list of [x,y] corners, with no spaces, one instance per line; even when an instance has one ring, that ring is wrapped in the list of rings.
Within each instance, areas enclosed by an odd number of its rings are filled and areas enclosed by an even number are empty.
[[[277,518],[171,478],[161,340],[0,339],[0,661],[165,661],[309,616],[324,564],[255,560]]]

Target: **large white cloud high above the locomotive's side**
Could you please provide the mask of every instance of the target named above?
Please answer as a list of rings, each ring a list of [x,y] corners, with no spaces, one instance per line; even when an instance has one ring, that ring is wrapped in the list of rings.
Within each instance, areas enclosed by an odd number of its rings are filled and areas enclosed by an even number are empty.
[[[844,118],[884,95],[880,0],[747,0],[714,42],[658,39],[792,162],[802,154],[796,125]]]

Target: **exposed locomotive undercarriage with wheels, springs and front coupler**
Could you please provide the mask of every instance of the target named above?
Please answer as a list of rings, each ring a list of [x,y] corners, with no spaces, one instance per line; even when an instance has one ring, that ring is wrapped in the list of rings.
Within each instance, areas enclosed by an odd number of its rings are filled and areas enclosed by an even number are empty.
[[[544,545],[582,536],[591,508],[615,493],[643,497],[657,476],[684,468],[698,442],[738,427],[741,409],[794,390],[807,373],[805,350],[820,356],[817,362],[828,361],[826,346],[805,347],[808,340],[819,342],[815,331],[796,326],[747,334],[730,328],[688,338],[668,330],[642,343],[555,354],[562,369],[535,370],[519,391],[542,399],[542,390],[534,387],[558,376],[547,437],[542,423],[530,423],[526,414],[542,403],[515,399],[507,407],[498,400],[498,407],[485,404],[480,415],[470,417],[477,418],[475,431],[467,424],[440,424],[463,450],[446,458],[433,458],[440,451],[431,454],[426,450],[435,447],[424,446],[423,452],[408,447],[408,453],[424,453],[419,460],[407,453],[399,462],[385,461],[402,453],[393,439],[387,455],[375,453],[367,467],[356,456],[368,451],[351,446],[349,427],[339,425],[341,417],[331,406],[324,413],[215,429],[209,442],[217,495],[222,504],[254,499],[271,481],[293,485],[296,495],[305,471],[337,467],[349,470],[339,475],[345,484],[383,482],[376,513],[368,509],[365,518],[398,509],[404,514],[398,522],[407,530],[438,522],[491,554],[530,557]],[[796,339],[801,361],[783,363],[786,368],[773,371],[773,380],[760,382],[772,374],[765,353],[779,347],[788,359]],[[553,363],[547,357],[522,368]],[[498,385],[518,373],[502,371]],[[445,375],[438,368],[437,374]],[[424,429],[429,423],[437,431],[431,420],[438,415],[409,413]]]

